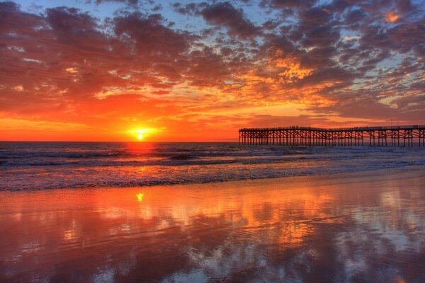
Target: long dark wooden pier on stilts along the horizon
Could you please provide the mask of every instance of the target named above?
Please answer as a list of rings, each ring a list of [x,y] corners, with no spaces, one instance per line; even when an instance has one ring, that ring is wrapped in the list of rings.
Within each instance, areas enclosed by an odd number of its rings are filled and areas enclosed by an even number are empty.
[[[282,146],[425,146],[425,125],[353,127],[243,128],[239,144]]]

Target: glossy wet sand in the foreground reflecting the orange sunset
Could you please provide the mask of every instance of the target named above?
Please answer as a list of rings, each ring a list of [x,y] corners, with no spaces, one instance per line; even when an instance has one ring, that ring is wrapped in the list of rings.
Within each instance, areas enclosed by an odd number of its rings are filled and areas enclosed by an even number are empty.
[[[424,172],[0,192],[0,282],[425,282]]]

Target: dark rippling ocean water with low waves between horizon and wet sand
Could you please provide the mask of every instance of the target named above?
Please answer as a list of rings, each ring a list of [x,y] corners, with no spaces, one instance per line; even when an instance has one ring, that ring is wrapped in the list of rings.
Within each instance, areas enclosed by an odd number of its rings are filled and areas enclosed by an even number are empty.
[[[420,147],[0,142],[0,190],[210,183],[421,165]]]

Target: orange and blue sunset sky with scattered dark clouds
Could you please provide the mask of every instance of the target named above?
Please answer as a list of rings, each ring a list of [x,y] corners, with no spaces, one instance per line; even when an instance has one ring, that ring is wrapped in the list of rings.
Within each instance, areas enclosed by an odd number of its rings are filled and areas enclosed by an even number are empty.
[[[0,140],[425,124],[424,1],[0,2]]]

